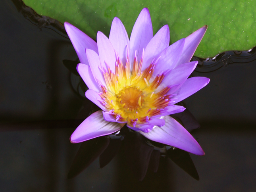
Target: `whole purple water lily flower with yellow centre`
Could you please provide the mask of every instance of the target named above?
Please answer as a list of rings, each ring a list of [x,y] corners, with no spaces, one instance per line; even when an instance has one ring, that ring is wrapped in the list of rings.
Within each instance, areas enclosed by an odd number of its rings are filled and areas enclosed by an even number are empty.
[[[71,142],[112,134],[127,124],[150,140],[204,155],[198,142],[169,115],[184,111],[176,104],[210,81],[188,79],[198,63],[189,61],[206,25],[171,46],[168,25],[153,36],[147,8],[139,14],[130,40],[117,17],[109,38],[98,31],[97,43],[73,25],[64,26],[81,62],[77,71],[89,88],[85,96],[102,109],[77,127]]]

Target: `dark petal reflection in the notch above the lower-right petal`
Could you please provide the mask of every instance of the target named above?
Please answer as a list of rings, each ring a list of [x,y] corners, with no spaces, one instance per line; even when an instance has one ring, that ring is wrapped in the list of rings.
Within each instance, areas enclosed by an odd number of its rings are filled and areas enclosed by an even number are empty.
[[[196,118],[194,118],[194,116],[188,109],[181,113],[175,113],[171,115],[171,117],[179,118],[179,120],[181,120],[183,124],[183,127],[189,132],[200,127],[200,124],[196,121]]]

